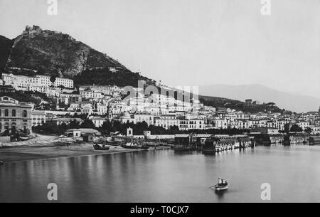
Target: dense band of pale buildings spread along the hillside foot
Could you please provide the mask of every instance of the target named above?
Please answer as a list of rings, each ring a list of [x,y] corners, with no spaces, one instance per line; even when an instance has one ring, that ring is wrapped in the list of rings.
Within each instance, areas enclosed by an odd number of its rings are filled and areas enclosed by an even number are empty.
[[[320,132],[320,110],[301,114],[294,112],[253,114],[228,107],[203,105],[196,99],[186,102],[168,95],[155,93],[144,95],[137,88],[135,97],[124,100],[124,88],[117,85],[80,85],[75,88],[71,79],[50,78],[46,75],[2,73],[0,84],[3,96],[0,101],[1,133],[9,129],[32,132],[33,128],[46,123],[55,123],[59,126],[69,125],[72,121],[81,124],[85,120],[92,122],[92,126],[97,129],[105,122],[121,124],[145,122],[147,127],[176,129],[175,132],[195,130],[205,132],[208,129],[248,129],[251,132],[269,129],[275,133],[293,131],[309,134]],[[35,95],[42,93],[50,99],[50,102],[43,99],[37,104],[18,102],[14,97],[9,97],[15,92]],[[245,101],[245,107],[261,104],[254,100]]]

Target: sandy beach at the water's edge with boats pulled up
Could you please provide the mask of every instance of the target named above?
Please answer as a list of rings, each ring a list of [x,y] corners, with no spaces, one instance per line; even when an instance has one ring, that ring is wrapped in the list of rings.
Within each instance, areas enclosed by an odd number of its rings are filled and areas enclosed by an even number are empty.
[[[147,151],[170,149],[170,147],[150,147]],[[1,147],[0,161],[6,163],[24,162],[41,159],[58,159],[70,157],[85,157],[105,154],[120,154],[129,152],[146,152],[141,149],[124,149],[112,147],[107,151],[93,149],[93,144],[71,144],[69,146],[55,146],[53,144],[39,146]]]

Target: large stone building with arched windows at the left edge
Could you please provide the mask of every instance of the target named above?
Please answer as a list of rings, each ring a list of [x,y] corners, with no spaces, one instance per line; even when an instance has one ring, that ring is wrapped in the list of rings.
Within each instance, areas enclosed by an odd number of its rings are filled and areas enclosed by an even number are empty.
[[[0,130],[22,129],[30,131],[32,127],[31,111],[33,104],[19,102],[11,97],[0,97]]]

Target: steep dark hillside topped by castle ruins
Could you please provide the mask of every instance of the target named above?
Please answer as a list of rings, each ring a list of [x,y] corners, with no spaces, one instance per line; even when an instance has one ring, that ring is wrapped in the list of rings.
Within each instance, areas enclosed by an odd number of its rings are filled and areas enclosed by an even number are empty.
[[[4,44],[8,45],[9,41]],[[41,74],[72,79],[77,77],[75,84],[90,82],[86,73],[90,73],[90,77],[101,76],[97,81],[104,85],[118,85],[117,82],[126,83],[126,80],[135,82],[137,79],[146,80],[147,83],[154,82],[132,73],[117,60],[95,51],[85,43],[75,41],[67,34],[42,30],[39,26],[27,26],[26,30],[14,39],[10,51],[3,53],[0,63],[4,65],[6,62],[5,70],[14,74]],[[97,75],[95,71],[98,71]],[[119,73],[117,80],[108,79],[113,73]]]

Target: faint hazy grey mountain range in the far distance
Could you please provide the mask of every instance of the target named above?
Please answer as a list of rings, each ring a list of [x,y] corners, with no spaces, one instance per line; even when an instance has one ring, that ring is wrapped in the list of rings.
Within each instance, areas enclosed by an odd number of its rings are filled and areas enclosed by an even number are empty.
[[[267,88],[263,85],[206,85],[199,87],[199,94],[241,101],[252,99],[266,103],[274,102],[278,107],[293,112],[317,111],[320,106],[319,98],[294,95]]]

